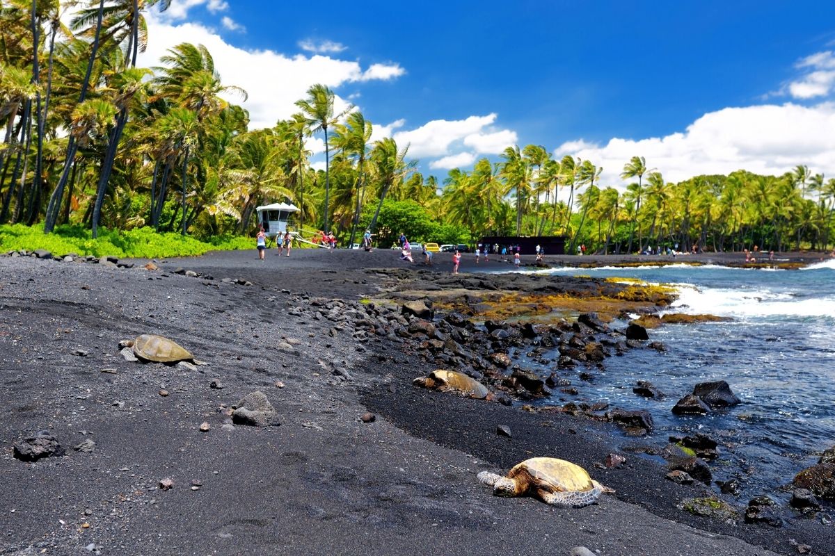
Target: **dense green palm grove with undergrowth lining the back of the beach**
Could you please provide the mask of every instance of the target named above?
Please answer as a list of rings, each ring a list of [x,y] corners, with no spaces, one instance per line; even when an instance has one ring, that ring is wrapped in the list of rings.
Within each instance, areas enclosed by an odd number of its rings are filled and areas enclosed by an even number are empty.
[[[372,142],[373,124],[357,108],[337,111],[321,84],[290,118],[251,129],[245,109],[225,100],[243,101],[245,91],[222,80],[204,46],[182,43],[159,66],[137,67],[153,39],[144,13],[169,5],[0,0],[3,248],[31,236],[21,227],[89,233],[84,242],[251,236],[256,207],[281,200],[300,208],[293,225],[302,234],[332,230],[343,244],[364,228],[381,244],[401,231],[439,243],[558,234],[570,252],[584,244],[599,253],[832,243],[835,179],[803,165],[781,176],[738,170],[672,183],[636,153],[607,174],[627,181],[623,188],[601,183],[594,161],[509,145],[472,170],[424,176],[408,145]],[[324,169],[311,165],[313,135],[324,141]]]

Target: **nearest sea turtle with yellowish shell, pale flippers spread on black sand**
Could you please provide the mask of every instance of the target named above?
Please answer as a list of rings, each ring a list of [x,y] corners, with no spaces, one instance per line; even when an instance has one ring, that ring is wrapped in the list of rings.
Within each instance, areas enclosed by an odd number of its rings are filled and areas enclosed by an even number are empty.
[[[496,496],[528,494],[564,508],[583,508],[595,503],[601,493],[615,492],[590,478],[579,465],[557,458],[526,459],[506,477],[482,471],[478,480],[492,486]]]

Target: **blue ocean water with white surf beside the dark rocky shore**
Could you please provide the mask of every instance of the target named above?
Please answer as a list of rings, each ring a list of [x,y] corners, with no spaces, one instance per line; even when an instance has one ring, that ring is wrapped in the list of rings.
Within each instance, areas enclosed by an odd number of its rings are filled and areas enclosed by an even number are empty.
[[[680,297],[666,312],[731,318],[650,329],[666,353],[632,349],[606,358],[605,372],[590,382],[571,371],[562,376],[578,386],[579,398],[649,410],[656,426],[650,442],[695,432],[715,438],[721,457],[711,463],[714,478],[736,478],[741,501],[760,493],[787,498],[794,475],[835,445],[835,260],[803,270],[673,265],[553,273],[675,284]],[[638,380],[654,383],[666,398],[632,393]],[[741,405],[704,417],[671,413],[681,396],[709,380],[726,380]]]

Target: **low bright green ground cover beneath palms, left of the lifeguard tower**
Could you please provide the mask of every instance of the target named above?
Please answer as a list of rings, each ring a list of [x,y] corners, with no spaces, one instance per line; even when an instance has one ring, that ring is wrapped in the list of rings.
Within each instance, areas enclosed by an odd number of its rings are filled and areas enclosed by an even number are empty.
[[[99,228],[99,238],[93,239],[89,229],[79,226],[59,226],[55,233],[43,233],[43,224],[0,226],[0,252],[3,253],[46,249],[56,256],[77,253],[96,257],[162,258],[201,255],[218,249],[251,249],[254,245],[253,238],[225,236],[200,240],[179,233],[156,233],[153,228],[127,231]]]

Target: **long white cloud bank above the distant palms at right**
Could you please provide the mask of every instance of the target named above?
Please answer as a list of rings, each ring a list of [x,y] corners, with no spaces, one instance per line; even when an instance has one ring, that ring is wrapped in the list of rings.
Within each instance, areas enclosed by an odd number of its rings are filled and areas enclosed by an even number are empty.
[[[667,181],[744,168],[780,175],[797,164],[835,174],[835,103],[806,107],[794,103],[723,108],[706,113],[683,133],[639,140],[612,138],[605,145],[582,139],[563,143],[555,156],[571,154],[605,168],[602,183],[620,185],[620,172],[633,156],[646,158]]]

